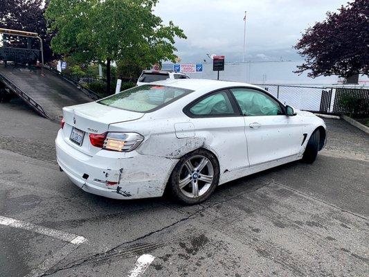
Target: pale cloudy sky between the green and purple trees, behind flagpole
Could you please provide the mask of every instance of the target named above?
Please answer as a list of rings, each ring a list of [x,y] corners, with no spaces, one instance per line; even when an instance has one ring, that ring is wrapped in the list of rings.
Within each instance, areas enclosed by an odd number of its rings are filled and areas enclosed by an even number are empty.
[[[241,62],[246,21],[246,60],[301,60],[292,48],[308,26],[348,0],[160,0],[156,15],[174,21],[188,39],[177,39],[182,62],[201,62],[206,53]]]

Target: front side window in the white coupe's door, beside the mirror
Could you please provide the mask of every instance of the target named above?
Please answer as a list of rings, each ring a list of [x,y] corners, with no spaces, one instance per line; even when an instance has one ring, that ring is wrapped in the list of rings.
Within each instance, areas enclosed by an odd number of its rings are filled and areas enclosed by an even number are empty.
[[[280,104],[262,91],[231,89],[244,116],[278,116],[283,114]]]

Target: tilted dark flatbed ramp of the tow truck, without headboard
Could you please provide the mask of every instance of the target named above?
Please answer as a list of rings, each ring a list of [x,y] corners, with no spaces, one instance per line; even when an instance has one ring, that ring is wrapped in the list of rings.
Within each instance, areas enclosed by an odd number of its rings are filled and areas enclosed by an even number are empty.
[[[7,89],[51,120],[62,117],[62,108],[97,100],[98,96],[50,69],[0,64],[0,81]]]

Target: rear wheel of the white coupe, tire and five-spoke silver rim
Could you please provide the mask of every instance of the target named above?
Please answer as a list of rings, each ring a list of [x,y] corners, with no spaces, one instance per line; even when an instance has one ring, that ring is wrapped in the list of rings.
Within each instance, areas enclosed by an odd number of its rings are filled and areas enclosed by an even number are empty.
[[[206,164],[201,169],[204,163]],[[193,170],[190,170],[190,165]],[[210,177],[213,177],[211,181]],[[186,183],[187,181],[188,183]],[[183,184],[186,185],[183,186]],[[170,175],[168,188],[177,202],[195,205],[208,199],[218,184],[219,164],[217,158],[208,150],[198,149],[179,159]]]

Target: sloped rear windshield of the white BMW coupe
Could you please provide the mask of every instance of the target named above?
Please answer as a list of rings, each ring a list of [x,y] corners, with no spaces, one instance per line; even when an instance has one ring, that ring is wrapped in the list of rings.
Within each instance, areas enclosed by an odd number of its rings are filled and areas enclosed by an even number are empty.
[[[99,100],[98,103],[127,111],[147,112],[160,109],[191,92],[189,89],[144,84]]]

